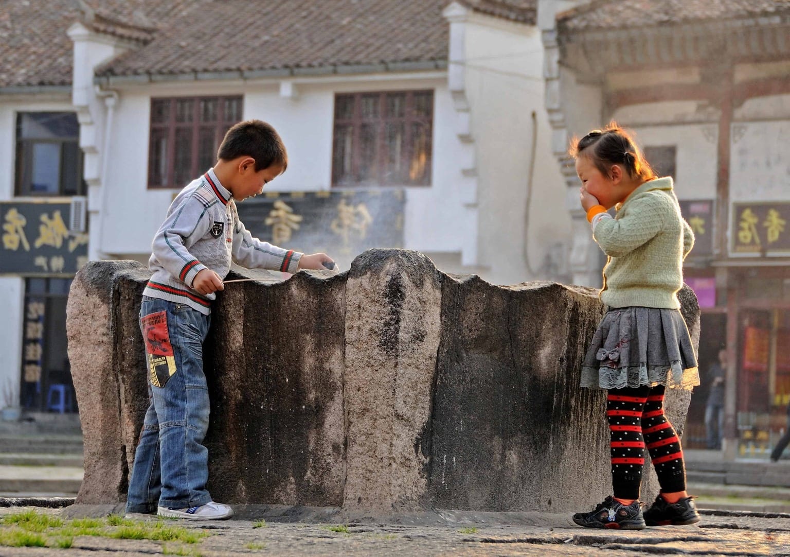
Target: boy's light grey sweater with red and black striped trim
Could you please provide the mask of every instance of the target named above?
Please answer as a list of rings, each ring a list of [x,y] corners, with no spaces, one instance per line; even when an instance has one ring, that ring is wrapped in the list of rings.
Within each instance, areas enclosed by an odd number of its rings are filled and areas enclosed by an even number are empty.
[[[215,295],[204,296],[191,288],[203,269],[224,278],[232,260],[250,269],[295,273],[303,255],[252,237],[239,220],[231,192],[209,169],[182,189],[167,210],[153,239],[149,260],[153,275],[143,294],[181,302],[209,315]]]

